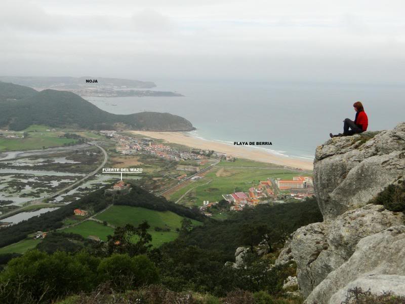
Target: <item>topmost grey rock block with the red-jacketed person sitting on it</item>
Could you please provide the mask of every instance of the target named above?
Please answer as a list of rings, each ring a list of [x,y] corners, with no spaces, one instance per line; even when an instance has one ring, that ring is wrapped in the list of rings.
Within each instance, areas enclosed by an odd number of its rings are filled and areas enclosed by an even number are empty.
[[[359,208],[403,178],[405,123],[393,130],[331,138],[316,148],[314,188],[323,219]]]

